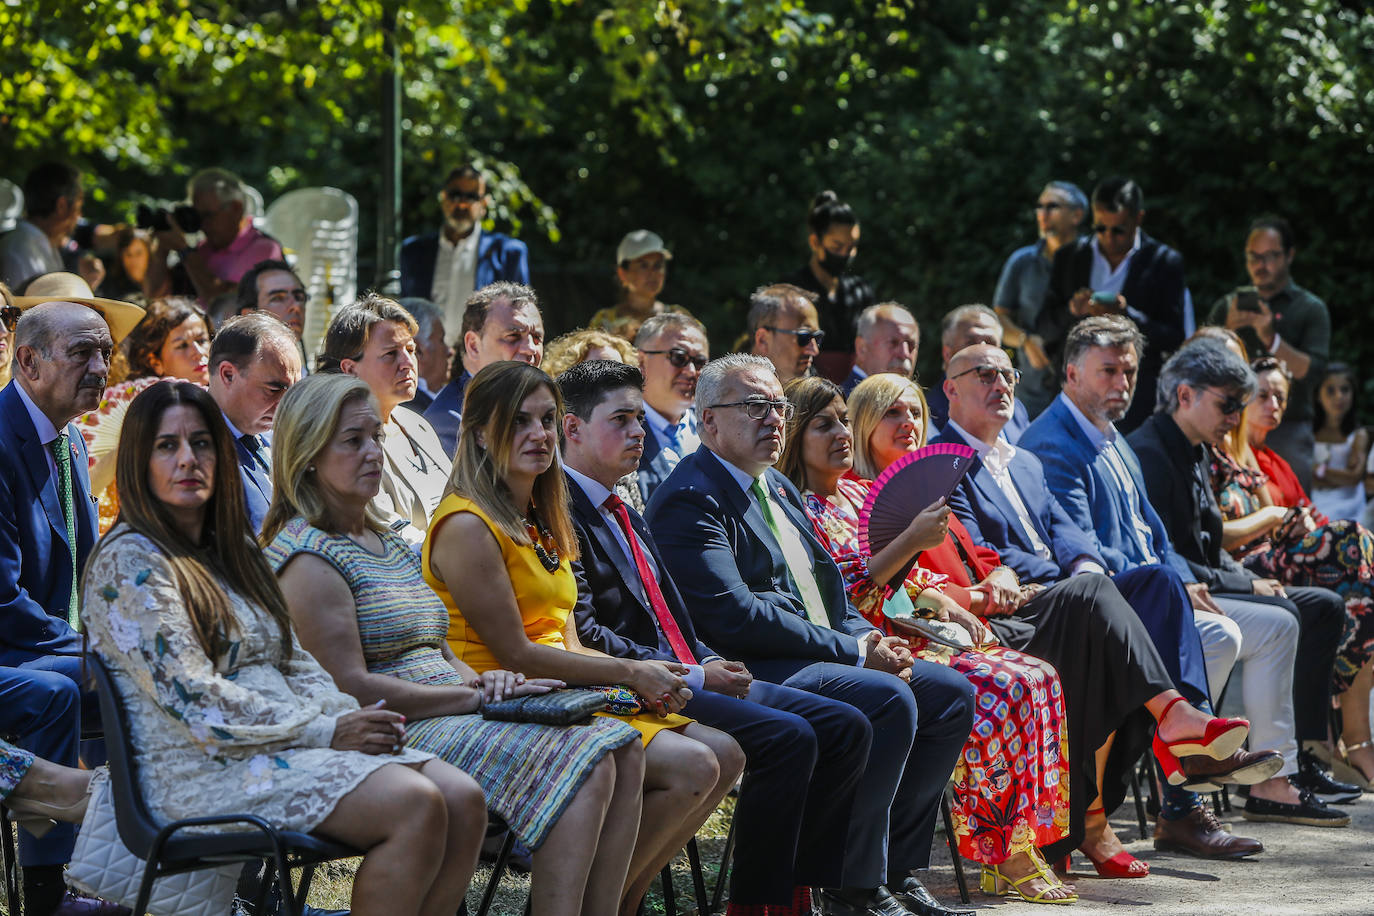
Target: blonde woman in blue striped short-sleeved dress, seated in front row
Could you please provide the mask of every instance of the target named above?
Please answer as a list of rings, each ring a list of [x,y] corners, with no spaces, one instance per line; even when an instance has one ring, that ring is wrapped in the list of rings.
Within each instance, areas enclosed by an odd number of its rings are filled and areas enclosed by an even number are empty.
[[[419,558],[371,508],[381,428],[368,386],[348,376],[312,375],[278,408],[262,540],[301,644],[341,689],[403,714],[407,747],[481,784],[533,851],[533,913],[613,913],[639,823],[638,736],[613,720],[555,728],[481,717],[485,703],[562,683],[477,674],[449,650],[448,611]]]

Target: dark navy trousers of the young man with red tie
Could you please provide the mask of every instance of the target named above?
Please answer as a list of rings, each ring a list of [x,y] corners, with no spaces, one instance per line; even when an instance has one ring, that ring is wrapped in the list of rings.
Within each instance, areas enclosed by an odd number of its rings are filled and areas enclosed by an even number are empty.
[[[840,700],[754,681],[746,699],[702,691],[684,715],[727,732],[749,764],[735,805],[734,904],[791,902],[842,883],[845,835],[872,729]]]

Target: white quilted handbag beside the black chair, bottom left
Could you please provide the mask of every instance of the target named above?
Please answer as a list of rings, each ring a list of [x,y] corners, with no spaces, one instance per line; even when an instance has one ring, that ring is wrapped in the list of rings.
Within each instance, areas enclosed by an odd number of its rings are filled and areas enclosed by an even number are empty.
[[[91,803],[67,865],[67,884],[133,906],[146,867],[147,862],[120,839],[110,769],[99,766],[91,776]],[[224,916],[234,904],[234,887],[242,871],[242,862],[232,862],[159,878],[153,882],[148,912],[154,916]]]

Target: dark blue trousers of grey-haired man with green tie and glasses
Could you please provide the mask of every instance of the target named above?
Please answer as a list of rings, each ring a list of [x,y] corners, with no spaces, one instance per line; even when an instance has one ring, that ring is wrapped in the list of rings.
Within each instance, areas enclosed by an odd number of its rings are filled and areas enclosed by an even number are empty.
[[[870,722],[872,746],[849,820],[842,886],[875,887],[929,865],[940,795],[973,728],[973,685],[929,662],[912,666],[910,685],[834,662],[779,659],[750,669],[849,703]]]

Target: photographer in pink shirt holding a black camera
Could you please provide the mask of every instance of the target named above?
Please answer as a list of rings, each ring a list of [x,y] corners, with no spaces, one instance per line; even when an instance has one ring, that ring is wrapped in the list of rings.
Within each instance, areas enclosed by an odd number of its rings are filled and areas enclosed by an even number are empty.
[[[185,191],[190,206],[140,213],[140,228],[154,229],[143,291],[150,299],[196,295],[209,308],[218,297],[236,293],[239,279],[254,264],[280,260],[282,246],[253,227],[245,211],[243,183],[232,172],[203,169]],[[205,240],[191,247],[185,239],[190,232],[203,233]],[[173,251],[180,261],[169,268]]]

